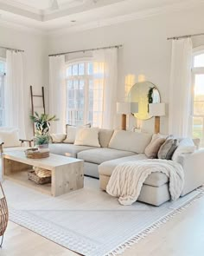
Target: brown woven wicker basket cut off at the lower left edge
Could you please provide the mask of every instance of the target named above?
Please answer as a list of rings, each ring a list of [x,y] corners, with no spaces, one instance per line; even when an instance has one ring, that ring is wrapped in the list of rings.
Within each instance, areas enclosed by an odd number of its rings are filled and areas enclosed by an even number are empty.
[[[6,230],[8,220],[9,220],[9,210],[7,207],[7,202],[5,198],[5,194],[3,192],[3,187],[0,182],[0,190],[2,190],[3,198],[0,199],[0,236],[2,237],[2,241],[0,243],[0,247],[3,244],[3,234]]]

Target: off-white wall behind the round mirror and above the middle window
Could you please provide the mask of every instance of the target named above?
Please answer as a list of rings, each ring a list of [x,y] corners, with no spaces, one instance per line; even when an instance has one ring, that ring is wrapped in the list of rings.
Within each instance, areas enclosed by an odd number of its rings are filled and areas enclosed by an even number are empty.
[[[145,75],[147,81],[156,84],[163,102],[169,102],[169,72],[171,42],[169,36],[204,32],[203,11],[183,10],[152,16],[143,20],[86,30],[75,34],[49,36],[49,54],[77,49],[90,49],[123,44],[118,59],[118,100],[124,99],[125,77]],[[204,44],[204,36],[194,38],[194,46]],[[131,119],[130,127],[135,124]],[[154,130],[153,119],[143,121],[146,131]],[[168,117],[162,118],[161,132],[168,133]]]

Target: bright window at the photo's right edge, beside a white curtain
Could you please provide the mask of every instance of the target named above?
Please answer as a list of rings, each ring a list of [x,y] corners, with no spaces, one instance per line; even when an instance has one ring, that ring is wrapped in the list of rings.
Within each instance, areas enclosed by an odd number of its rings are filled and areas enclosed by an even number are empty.
[[[193,58],[193,136],[201,139],[204,147],[204,50],[195,52]]]

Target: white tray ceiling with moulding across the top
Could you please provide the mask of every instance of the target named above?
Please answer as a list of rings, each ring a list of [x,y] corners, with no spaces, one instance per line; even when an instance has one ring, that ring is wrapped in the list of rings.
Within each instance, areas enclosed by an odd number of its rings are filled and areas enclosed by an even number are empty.
[[[0,0],[0,24],[52,34],[121,23],[195,5],[204,10],[204,0],[58,0],[59,9],[51,10],[52,1]]]

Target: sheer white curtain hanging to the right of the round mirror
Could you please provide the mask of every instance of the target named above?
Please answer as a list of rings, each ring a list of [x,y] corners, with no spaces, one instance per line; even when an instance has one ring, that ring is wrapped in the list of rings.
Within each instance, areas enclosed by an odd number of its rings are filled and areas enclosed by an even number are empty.
[[[173,40],[169,90],[169,134],[191,135],[191,38]]]

